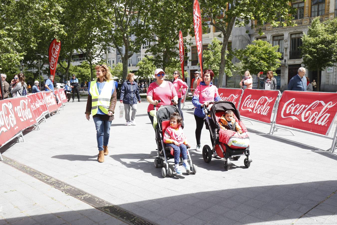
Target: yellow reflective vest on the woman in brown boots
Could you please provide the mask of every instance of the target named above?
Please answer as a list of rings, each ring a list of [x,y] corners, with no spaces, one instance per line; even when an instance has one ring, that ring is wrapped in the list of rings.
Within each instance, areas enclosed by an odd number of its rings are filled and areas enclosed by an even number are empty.
[[[97,114],[98,107],[103,113],[108,114],[109,107],[110,107],[110,100],[112,96],[111,93],[114,88],[115,88],[115,83],[113,80],[106,81],[101,90],[101,93],[99,94],[96,81],[90,82],[89,92],[92,97],[92,102],[91,102],[92,115]]]

